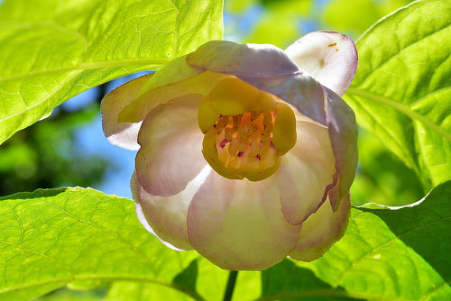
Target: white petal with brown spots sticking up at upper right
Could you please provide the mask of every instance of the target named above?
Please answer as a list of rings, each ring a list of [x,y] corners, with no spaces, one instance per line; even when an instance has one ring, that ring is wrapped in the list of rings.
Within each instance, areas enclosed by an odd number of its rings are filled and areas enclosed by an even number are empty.
[[[357,50],[354,42],[338,32],[309,32],[285,52],[323,86],[343,96],[354,79]]]

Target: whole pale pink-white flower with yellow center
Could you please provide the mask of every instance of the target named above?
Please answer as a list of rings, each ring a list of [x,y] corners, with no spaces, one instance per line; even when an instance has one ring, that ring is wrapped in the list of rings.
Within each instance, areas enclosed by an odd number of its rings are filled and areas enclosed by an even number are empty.
[[[315,260],[343,236],[357,167],[354,42],[310,32],[287,50],[208,41],[102,102],[106,137],[138,150],[144,227],[223,269]]]

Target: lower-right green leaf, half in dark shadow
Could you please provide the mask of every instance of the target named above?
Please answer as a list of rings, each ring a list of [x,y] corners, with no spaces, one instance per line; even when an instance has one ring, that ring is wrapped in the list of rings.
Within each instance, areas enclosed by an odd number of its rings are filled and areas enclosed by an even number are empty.
[[[326,288],[329,296],[449,300],[449,196],[451,181],[434,188],[416,205],[390,209],[381,205],[353,208],[345,236],[330,251],[309,263],[293,262],[312,270],[329,287],[341,291],[336,293]],[[299,283],[298,290],[293,287],[290,286],[290,296],[297,291],[302,296],[302,289],[299,289],[302,285]],[[327,291],[323,292],[324,296]]]

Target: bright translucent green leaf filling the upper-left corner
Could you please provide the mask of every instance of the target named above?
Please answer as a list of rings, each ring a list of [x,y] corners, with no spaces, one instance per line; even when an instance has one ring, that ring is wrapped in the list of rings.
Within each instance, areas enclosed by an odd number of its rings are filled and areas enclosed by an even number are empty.
[[[6,0],[0,143],[90,87],[221,37],[221,0]]]

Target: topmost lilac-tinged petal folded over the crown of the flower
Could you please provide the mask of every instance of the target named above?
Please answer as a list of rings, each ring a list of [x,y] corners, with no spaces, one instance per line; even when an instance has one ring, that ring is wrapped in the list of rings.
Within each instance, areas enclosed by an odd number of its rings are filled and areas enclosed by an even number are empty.
[[[189,65],[237,77],[281,77],[299,72],[283,50],[269,44],[208,41],[189,53]]]

